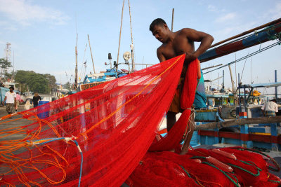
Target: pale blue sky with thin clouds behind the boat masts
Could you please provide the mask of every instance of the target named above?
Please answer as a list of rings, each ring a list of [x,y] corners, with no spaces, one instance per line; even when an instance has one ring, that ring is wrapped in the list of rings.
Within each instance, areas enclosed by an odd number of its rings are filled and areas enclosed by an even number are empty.
[[[122,0],[70,1],[70,0],[0,0],[0,57],[4,57],[6,42],[11,43],[15,70],[33,70],[41,74],[55,75],[58,83],[70,81],[74,76],[76,32],[78,34],[79,74],[83,61],[87,61],[86,73],[93,71],[87,34],[91,39],[96,71],[105,71],[107,53],[117,59]],[[131,0],[131,18],[136,63],[158,63],[156,49],[161,44],[149,31],[155,18],[163,18],[171,26],[174,13],[174,30],[189,27],[214,36],[214,43],[235,34],[281,18],[281,1],[171,1]],[[130,50],[131,34],[128,1],[125,0],[119,62],[122,54]],[[274,43],[263,43],[261,48]],[[198,46],[198,45],[196,45]],[[259,50],[260,46],[236,53],[240,58]],[[266,50],[247,60],[242,77],[243,83],[274,81],[274,70],[281,81],[281,46]],[[235,60],[235,54],[204,62],[202,67],[226,64]],[[244,61],[237,63],[237,73],[242,73]],[[252,67],[252,68],[251,68]],[[107,66],[108,68],[108,66]],[[122,67],[125,69],[126,67]],[[142,69],[137,66],[136,69]],[[233,65],[235,76],[235,66]],[[214,79],[222,70],[205,74]],[[224,68],[226,86],[230,87],[228,68]],[[66,76],[67,74],[67,76]],[[83,76],[82,76],[83,77]],[[71,81],[73,81],[72,78]],[[219,84],[221,84],[219,81]]]

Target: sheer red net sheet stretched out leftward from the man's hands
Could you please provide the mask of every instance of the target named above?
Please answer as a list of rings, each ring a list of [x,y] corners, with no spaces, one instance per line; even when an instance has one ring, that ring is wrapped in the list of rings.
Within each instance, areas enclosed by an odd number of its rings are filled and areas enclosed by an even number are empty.
[[[0,130],[0,183],[122,185],[155,138],[184,58],[18,113],[30,125]]]

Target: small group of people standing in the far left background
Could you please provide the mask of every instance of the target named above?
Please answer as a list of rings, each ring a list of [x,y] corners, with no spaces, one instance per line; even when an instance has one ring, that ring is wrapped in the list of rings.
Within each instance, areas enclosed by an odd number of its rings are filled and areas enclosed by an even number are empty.
[[[34,107],[38,106],[39,100],[41,100],[41,97],[38,95],[38,93],[35,93],[32,99],[32,103]],[[9,88],[9,91],[6,92],[4,101],[2,102],[3,105],[6,104],[7,113],[8,114],[13,113],[14,107],[15,107],[15,113],[18,112],[18,106],[20,105],[20,102],[22,102],[22,98],[20,97],[20,94],[18,92],[14,92],[14,88],[11,86]]]

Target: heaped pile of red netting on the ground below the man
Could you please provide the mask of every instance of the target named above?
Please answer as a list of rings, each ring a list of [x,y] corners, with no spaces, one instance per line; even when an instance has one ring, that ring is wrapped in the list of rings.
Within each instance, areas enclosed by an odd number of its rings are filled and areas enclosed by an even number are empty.
[[[146,153],[129,186],[280,186],[263,156],[241,147]]]

